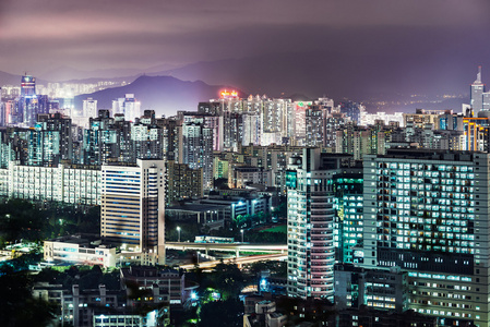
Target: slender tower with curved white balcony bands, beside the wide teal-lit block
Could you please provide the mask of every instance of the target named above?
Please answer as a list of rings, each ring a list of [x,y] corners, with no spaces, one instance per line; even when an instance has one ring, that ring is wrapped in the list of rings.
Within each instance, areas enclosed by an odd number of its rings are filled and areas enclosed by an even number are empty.
[[[325,154],[322,155],[319,148],[306,148],[302,156],[289,159],[286,172],[288,295],[333,301],[335,210],[332,177],[337,171],[323,165],[324,159]]]

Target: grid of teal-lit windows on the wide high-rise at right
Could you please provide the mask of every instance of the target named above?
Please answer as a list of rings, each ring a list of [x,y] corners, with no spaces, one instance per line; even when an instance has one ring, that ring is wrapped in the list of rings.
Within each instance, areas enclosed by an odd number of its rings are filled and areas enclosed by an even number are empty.
[[[379,162],[378,242],[384,247],[474,254],[474,167]]]

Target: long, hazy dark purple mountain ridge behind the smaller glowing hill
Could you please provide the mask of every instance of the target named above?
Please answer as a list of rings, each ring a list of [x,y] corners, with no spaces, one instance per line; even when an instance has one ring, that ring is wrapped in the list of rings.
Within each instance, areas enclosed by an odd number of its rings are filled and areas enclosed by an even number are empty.
[[[420,56],[419,56],[420,55]],[[401,65],[399,62],[411,64]],[[416,63],[414,63],[416,62]],[[363,101],[374,95],[413,94],[435,98],[442,94],[467,94],[476,76],[473,61],[426,58],[423,53],[397,57],[335,50],[271,53],[252,58],[198,62],[156,74],[208,84],[236,85],[247,94],[280,97],[300,94],[314,99],[349,98]]]

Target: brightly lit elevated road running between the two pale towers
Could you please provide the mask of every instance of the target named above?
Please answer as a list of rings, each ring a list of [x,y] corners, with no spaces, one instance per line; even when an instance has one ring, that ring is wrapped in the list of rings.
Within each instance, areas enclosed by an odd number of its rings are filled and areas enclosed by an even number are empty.
[[[166,249],[174,250],[198,250],[207,253],[207,251],[223,252],[271,252],[287,253],[287,244],[249,244],[249,243],[191,243],[191,242],[167,242]]]

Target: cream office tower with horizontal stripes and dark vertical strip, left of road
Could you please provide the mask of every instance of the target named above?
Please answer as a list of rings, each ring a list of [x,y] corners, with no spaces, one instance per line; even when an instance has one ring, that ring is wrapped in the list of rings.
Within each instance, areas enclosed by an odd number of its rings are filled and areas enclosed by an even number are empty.
[[[100,235],[141,254],[143,265],[165,263],[164,175],[164,160],[101,167]]]

